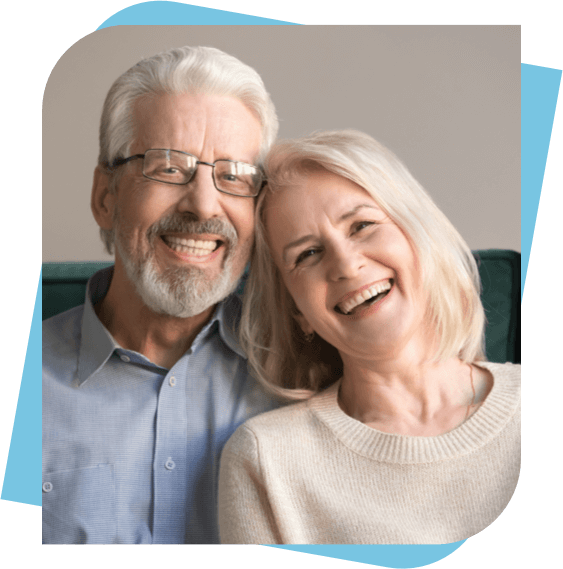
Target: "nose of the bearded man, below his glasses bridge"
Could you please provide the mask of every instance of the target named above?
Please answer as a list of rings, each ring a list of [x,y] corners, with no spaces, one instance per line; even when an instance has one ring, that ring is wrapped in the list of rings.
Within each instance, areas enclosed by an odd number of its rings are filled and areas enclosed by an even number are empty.
[[[183,189],[184,194],[178,202],[180,212],[192,213],[198,219],[223,215],[222,194],[215,188],[213,169],[209,164],[198,164],[196,173]]]

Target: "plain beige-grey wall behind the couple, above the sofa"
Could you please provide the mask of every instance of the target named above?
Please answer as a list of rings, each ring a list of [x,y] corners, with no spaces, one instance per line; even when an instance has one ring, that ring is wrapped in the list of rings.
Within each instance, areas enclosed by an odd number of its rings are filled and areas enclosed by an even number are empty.
[[[43,99],[43,252],[110,260],[90,212],[102,104],[143,57],[209,45],[254,67],[280,137],[356,128],[390,147],[472,249],[520,251],[520,25],[116,26],[72,45]]]

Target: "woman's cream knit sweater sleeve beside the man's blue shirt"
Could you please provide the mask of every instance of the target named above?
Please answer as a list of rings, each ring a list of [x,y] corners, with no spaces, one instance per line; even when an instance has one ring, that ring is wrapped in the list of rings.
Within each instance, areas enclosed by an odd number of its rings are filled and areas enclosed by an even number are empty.
[[[258,441],[246,425],[223,449],[218,501],[222,544],[282,543],[262,477]]]

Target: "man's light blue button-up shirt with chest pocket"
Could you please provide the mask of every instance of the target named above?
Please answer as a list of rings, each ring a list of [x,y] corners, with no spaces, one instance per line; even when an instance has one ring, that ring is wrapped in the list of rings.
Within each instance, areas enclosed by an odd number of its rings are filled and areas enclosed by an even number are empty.
[[[43,544],[219,544],[223,445],[278,406],[233,334],[240,299],[219,304],[168,370],[121,348],[96,316],[112,274],[43,322]]]

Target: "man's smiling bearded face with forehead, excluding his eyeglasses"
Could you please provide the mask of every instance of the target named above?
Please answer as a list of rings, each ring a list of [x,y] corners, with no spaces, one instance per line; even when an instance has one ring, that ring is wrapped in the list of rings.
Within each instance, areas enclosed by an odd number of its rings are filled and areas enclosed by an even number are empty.
[[[213,163],[254,164],[261,126],[240,101],[210,95],[160,95],[135,107],[131,155],[180,150]],[[187,318],[236,288],[249,259],[254,199],[219,192],[212,168],[198,165],[189,184],[145,178],[142,160],[126,168],[114,196],[116,267],[154,312]]]

